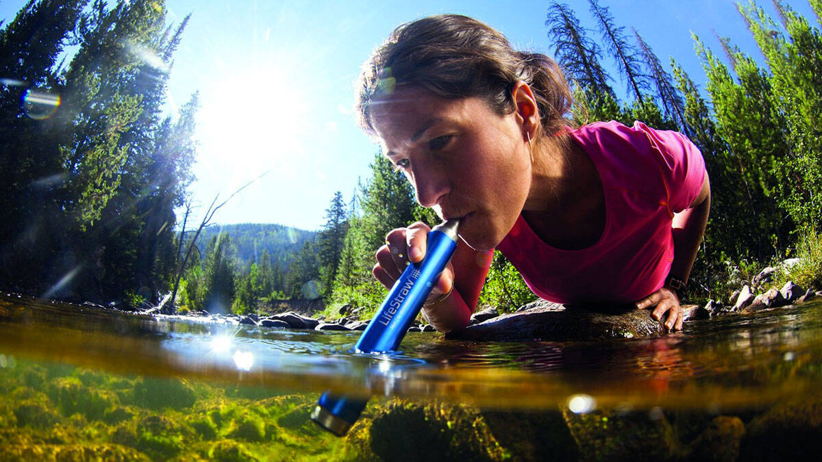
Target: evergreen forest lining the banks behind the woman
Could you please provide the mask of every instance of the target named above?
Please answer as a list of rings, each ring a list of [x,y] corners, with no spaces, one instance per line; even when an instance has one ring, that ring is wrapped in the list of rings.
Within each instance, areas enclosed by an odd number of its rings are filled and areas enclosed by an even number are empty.
[[[639,120],[702,150],[712,207],[688,303],[727,298],[793,257],[789,277],[822,285],[822,0],[809,2],[813,22],[778,0],[777,17],[739,3],[758,49],[723,37],[710,49],[694,36],[704,88],[616,24],[603,0],[546,3],[545,49],[572,83],[573,125]],[[169,310],[253,312],[305,298],[323,298],[329,314],[374,310],[386,291],[372,278],[373,254],[386,233],[439,220],[376,153],[353,196],[330,199],[317,233],[218,228],[213,213],[189,223],[198,102],[164,115],[188,21],[169,25],[164,12],[158,1],[31,0],[0,25],[0,288],[130,308],[172,293]],[[480,303],[504,311],[533,298],[496,254]]]

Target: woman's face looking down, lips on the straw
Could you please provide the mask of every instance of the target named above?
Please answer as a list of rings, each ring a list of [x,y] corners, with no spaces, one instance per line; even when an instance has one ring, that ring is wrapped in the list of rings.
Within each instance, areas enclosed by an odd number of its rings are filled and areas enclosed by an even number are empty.
[[[521,121],[521,119],[520,119]],[[383,153],[442,219],[477,250],[496,247],[528,196],[528,143],[516,113],[499,115],[477,97],[445,99],[406,87],[372,106]]]

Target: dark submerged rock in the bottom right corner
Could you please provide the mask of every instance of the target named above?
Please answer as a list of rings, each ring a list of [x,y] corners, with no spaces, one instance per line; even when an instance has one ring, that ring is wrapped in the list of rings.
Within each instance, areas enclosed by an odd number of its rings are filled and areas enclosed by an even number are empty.
[[[822,398],[778,404],[746,426],[739,460],[818,460]]]

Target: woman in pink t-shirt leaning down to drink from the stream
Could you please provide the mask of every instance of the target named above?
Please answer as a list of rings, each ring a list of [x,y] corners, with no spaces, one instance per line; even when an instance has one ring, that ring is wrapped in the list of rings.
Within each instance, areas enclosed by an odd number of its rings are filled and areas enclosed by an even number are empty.
[[[556,62],[496,30],[442,15],[401,25],[363,71],[360,123],[420,205],[460,219],[461,242],[423,315],[468,326],[494,248],[557,303],[635,303],[669,330],[709,212],[704,160],[642,123],[567,125]],[[426,224],[394,229],[373,273],[389,287],[425,255]]]

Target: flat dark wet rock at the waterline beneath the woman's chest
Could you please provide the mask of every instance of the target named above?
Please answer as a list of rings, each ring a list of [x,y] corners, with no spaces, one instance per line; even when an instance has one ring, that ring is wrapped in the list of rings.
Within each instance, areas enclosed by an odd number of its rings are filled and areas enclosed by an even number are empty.
[[[663,335],[663,323],[654,321],[649,310],[623,307],[609,312],[590,311],[583,307],[564,306],[538,300],[525,305],[521,312],[504,314],[491,320],[449,332],[456,340],[603,340]],[[689,319],[695,305],[682,307]]]

